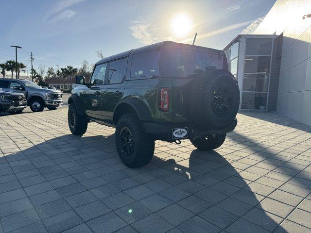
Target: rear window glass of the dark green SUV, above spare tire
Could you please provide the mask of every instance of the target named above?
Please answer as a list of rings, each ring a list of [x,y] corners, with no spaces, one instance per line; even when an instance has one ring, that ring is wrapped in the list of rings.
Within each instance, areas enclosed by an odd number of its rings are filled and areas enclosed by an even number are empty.
[[[211,52],[176,49],[171,62],[171,77],[188,77],[195,70],[205,70],[206,67],[223,68],[223,60],[218,54]]]

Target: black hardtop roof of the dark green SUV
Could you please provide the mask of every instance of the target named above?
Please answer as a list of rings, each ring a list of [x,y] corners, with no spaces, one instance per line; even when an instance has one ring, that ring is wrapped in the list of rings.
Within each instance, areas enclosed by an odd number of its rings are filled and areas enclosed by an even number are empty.
[[[147,46],[140,47],[140,48],[137,48],[137,49],[121,52],[121,53],[118,53],[118,54],[115,54],[115,55],[112,55],[112,56],[109,56],[109,57],[105,57],[104,59],[98,61],[95,65],[101,64],[101,63],[104,63],[104,62],[108,62],[108,61],[112,61],[112,60],[116,60],[116,59],[119,59],[119,58],[122,58],[122,57],[127,57],[130,54],[130,52],[139,51],[139,50],[145,50],[145,49],[149,49],[149,48],[160,46],[160,45],[165,45],[165,46],[174,46],[175,45],[177,47],[178,46],[180,46],[180,47],[189,47],[189,48],[195,48],[196,50],[209,51],[209,52],[212,52],[212,53],[218,53],[219,51],[221,51],[221,50],[210,49],[210,48],[207,48],[207,47],[202,47],[202,46],[197,46],[197,45],[183,44],[183,43],[177,43],[177,42],[173,42],[173,41],[162,41],[162,42],[155,43],[155,44],[152,44],[152,45],[147,45]]]

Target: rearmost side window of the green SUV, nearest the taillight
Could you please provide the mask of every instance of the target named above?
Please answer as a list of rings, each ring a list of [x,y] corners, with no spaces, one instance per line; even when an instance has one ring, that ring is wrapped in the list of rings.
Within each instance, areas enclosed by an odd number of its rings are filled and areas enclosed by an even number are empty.
[[[159,53],[157,50],[141,52],[133,55],[131,77],[150,77],[159,75]]]

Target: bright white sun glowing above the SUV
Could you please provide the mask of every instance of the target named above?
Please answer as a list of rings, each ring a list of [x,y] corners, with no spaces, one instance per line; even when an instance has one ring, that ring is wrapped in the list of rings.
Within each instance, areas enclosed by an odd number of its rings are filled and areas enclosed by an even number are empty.
[[[171,28],[177,37],[186,35],[192,28],[190,17],[184,13],[176,14],[172,19]]]

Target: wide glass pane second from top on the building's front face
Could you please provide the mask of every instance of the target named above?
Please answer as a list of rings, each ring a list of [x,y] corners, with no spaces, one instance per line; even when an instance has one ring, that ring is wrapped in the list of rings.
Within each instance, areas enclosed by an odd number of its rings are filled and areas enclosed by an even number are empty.
[[[270,71],[270,56],[245,56],[244,73],[265,73]]]

